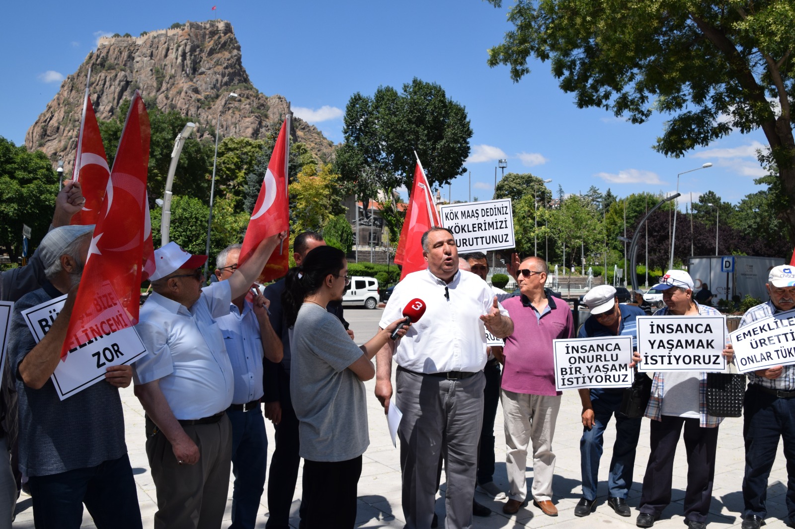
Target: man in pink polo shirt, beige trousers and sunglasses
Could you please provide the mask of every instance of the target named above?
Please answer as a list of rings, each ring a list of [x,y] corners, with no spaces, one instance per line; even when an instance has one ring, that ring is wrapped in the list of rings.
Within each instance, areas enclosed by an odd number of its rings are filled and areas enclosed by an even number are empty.
[[[502,511],[515,514],[525,503],[527,447],[533,442],[533,504],[556,516],[552,503],[555,454],[552,439],[561,393],[555,390],[552,341],[574,337],[572,311],[563,299],[545,290],[548,268],[543,259],[527,257],[518,270],[522,295],[502,302],[514,320],[514,334],[505,338],[502,411],[505,423],[506,469],[510,491]]]

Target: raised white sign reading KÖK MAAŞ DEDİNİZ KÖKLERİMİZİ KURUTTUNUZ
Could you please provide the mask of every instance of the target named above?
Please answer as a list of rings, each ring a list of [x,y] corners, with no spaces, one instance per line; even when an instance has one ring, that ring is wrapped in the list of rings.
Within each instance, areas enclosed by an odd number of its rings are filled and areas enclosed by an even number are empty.
[[[458,253],[514,248],[514,214],[510,199],[484,200],[439,207],[442,226],[456,239]]]

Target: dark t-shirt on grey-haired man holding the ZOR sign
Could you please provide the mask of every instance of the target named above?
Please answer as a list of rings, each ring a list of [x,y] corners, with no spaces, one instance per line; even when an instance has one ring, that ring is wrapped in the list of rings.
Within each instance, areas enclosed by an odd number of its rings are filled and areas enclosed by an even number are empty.
[[[36,346],[21,311],[60,296],[51,284],[14,304],[8,361],[19,392],[19,469],[26,476],[49,476],[86,469],[127,453],[124,413],[118,389],[105,380],[60,400],[52,380],[41,389],[19,379],[18,366]]]

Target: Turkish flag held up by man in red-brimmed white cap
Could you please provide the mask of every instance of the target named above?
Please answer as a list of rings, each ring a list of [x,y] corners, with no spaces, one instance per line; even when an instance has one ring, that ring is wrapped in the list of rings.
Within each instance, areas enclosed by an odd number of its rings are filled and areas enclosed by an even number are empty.
[[[287,175],[285,160],[287,155],[287,119],[281,124],[279,137],[270,155],[268,170],[262,187],[259,189],[254,213],[251,214],[238,264],[246,262],[262,239],[289,230],[289,197],[287,195]],[[258,282],[267,283],[284,276],[289,268],[288,249],[280,248],[270,255],[268,263],[260,273]]]

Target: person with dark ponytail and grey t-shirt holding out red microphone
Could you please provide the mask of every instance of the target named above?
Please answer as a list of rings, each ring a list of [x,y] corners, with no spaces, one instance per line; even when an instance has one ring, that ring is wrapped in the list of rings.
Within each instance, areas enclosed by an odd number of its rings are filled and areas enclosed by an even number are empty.
[[[356,346],[339,319],[326,311],[330,301],[342,299],[350,281],[342,250],[318,246],[290,270],[282,296],[293,326],[290,396],[304,458],[306,529],[354,527],[356,485],[370,444],[363,380],[375,376],[370,359],[404,322],[398,319]],[[407,329],[402,326],[398,335]]]

